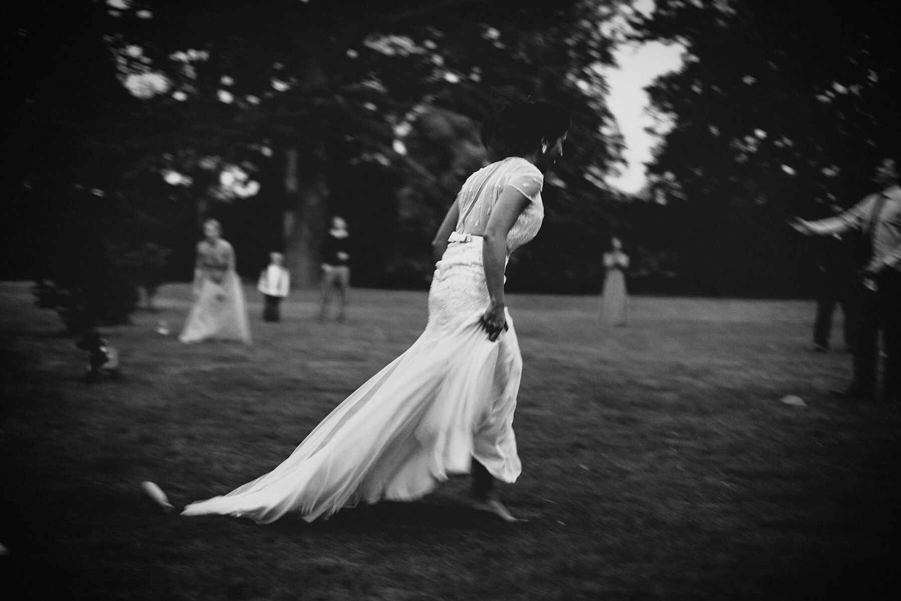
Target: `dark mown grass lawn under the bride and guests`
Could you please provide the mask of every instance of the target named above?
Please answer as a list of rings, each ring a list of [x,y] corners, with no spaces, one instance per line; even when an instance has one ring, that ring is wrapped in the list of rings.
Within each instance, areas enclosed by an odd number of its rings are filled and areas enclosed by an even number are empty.
[[[119,382],[26,284],[0,284],[0,598],[894,599],[901,407],[831,398],[843,351],[807,351],[804,301],[636,297],[602,328],[589,296],[512,295],[525,368],[514,423],[520,524],[452,478],[410,504],[306,524],[161,514],[285,458],[422,332],[420,292],[354,290],[348,323],[296,292],[254,343],[177,341],[187,286],[105,328]],[[156,332],[158,320],[172,334]],[[838,328],[836,328],[838,333]],[[782,396],[806,406],[782,404]],[[5,591],[5,592],[4,592]]]

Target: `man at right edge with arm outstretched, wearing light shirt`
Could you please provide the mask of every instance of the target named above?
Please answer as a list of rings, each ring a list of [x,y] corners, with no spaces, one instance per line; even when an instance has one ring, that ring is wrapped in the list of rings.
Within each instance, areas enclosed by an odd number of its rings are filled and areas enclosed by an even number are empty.
[[[860,231],[869,242],[869,257],[860,270],[860,285],[853,295],[854,378],[851,386],[833,394],[853,400],[878,396],[878,336],[885,353],[881,396],[901,398],[901,187],[899,158],[883,159],[873,181],[881,188],[842,214],[819,221],[795,218],[789,222],[805,235],[828,236]]]

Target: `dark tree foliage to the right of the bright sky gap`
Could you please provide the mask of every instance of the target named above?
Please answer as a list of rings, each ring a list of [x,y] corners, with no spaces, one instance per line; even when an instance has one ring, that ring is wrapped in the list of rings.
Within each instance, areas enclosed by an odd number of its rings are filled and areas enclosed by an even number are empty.
[[[696,233],[693,278],[707,292],[803,289],[806,249],[784,220],[853,204],[898,147],[896,3],[656,4],[643,37],[681,41],[687,62],[651,87],[665,133],[653,187]]]

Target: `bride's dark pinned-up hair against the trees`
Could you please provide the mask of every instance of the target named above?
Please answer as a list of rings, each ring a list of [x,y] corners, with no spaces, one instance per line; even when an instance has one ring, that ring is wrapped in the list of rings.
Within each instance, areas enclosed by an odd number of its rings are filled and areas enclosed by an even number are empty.
[[[489,118],[481,130],[485,148],[498,158],[524,157],[569,130],[569,110],[548,100],[513,100]]]

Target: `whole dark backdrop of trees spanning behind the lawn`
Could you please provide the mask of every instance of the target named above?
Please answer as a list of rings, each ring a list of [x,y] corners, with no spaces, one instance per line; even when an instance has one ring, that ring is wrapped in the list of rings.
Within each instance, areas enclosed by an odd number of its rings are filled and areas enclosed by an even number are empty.
[[[5,243],[53,253],[34,234],[77,215],[123,256],[171,249],[183,278],[212,215],[244,275],[286,250],[304,284],[340,212],[366,249],[360,283],[423,286],[432,232],[486,160],[478,122],[506,95],[540,96],[569,105],[573,128],[511,287],[596,289],[617,232],[636,275],[683,291],[802,290],[809,258],[785,218],[850,205],[896,150],[892,3],[659,0],[648,18],[633,4],[14,2],[5,210],[32,225],[5,226]],[[687,48],[650,87],[663,144],[638,197],[604,182],[623,148],[603,77],[623,19]]]

